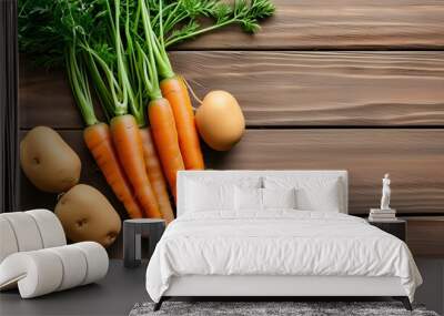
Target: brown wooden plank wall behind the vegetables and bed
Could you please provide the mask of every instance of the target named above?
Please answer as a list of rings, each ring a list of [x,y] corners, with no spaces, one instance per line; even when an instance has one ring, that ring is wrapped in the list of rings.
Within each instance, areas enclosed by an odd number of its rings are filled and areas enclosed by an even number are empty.
[[[393,179],[414,254],[444,255],[444,1],[275,0],[262,32],[229,28],[174,48],[199,95],[239,100],[245,136],[231,152],[205,147],[211,169],[345,169],[350,212],[365,215]],[[112,196],[82,144],[62,72],[20,70],[22,134],[56,128],[83,162],[82,182]],[[22,176],[22,208],[52,208]],[[420,216],[421,215],[421,216]],[[120,255],[120,243],[111,249]]]

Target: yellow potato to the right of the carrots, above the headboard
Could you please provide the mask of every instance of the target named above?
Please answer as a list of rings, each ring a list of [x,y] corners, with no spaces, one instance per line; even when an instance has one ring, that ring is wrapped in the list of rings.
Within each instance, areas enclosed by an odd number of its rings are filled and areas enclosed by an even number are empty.
[[[195,112],[195,123],[203,141],[216,151],[230,150],[245,130],[242,110],[226,91],[212,91],[205,95]]]

